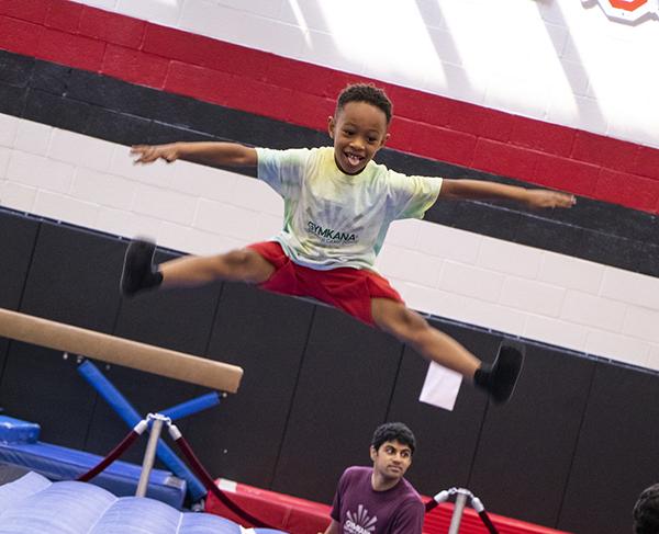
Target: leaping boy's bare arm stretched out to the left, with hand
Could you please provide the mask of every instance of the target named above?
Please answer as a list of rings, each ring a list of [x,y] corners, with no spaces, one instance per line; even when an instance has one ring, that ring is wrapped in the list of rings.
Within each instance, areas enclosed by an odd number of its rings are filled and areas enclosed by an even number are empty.
[[[186,159],[196,163],[227,167],[253,167],[256,150],[237,143],[171,143],[169,145],[135,145],[131,148],[135,163],[153,163],[164,159],[168,163]]]

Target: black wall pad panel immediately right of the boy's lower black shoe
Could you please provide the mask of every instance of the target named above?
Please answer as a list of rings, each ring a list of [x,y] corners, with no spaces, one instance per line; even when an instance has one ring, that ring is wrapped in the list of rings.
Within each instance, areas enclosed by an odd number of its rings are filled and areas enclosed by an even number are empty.
[[[593,367],[573,354],[526,345],[515,396],[488,409],[469,481],[490,510],[556,524]]]

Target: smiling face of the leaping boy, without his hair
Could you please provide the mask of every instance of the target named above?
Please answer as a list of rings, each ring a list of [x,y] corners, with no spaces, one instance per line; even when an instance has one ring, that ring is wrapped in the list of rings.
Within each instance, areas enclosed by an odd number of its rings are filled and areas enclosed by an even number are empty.
[[[334,160],[346,174],[358,174],[389,138],[387,115],[367,102],[348,102],[327,122]]]

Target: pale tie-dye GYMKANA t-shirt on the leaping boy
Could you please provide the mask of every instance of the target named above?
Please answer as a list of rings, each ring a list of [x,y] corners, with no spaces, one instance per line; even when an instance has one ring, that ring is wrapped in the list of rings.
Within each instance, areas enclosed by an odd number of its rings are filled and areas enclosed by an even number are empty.
[[[409,177],[369,161],[356,175],[334,161],[334,148],[257,148],[258,178],[283,197],[275,237],[295,263],[317,270],[370,269],[395,219],[422,218],[440,178]]]

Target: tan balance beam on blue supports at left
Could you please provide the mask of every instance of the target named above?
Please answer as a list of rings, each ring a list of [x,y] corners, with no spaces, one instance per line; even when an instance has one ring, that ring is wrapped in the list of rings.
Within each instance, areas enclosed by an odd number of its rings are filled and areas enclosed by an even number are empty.
[[[146,371],[221,391],[236,393],[243,377],[243,370],[236,365],[3,308],[0,308],[0,337]]]

